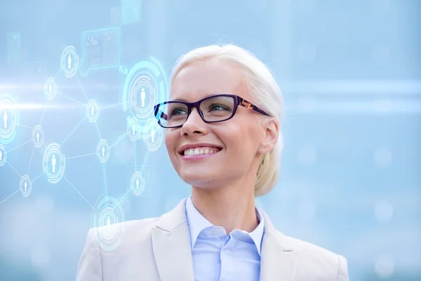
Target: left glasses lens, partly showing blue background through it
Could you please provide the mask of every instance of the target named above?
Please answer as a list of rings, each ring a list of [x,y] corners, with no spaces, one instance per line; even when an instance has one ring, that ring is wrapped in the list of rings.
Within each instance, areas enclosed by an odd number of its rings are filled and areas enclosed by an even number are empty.
[[[187,120],[187,105],[173,102],[161,103],[156,112],[156,119],[165,127],[180,126]]]

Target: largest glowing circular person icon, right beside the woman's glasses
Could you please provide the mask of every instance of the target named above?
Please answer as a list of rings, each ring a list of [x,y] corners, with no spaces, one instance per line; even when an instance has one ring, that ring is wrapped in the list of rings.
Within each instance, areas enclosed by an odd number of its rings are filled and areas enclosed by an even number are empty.
[[[158,60],[143,60],[128,72],[123,86],[123,110],[138,118],[141,127],[153,116],[154,105],[167,98],[166,73]]]

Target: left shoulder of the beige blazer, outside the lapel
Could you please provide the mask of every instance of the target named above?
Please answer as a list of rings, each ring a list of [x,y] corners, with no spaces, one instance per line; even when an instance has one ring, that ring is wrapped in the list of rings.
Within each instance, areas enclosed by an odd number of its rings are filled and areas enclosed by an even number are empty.
[[[145,276],[155,274],[152,228],[157,220],[145,218],[91,228],[79,261],[76,280],[134,280],[132,277],[138,275],[137,270],[142,266],[148,268],[142,269]],[[109,237],[112,239],[107,239]]]

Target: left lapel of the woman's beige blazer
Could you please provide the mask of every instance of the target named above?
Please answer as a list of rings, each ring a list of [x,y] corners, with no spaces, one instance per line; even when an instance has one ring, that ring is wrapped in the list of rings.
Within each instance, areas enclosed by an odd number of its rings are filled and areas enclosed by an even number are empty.
[[[152,228],[152,247],[161,281],[194,281],[186,199],[163,214]]]

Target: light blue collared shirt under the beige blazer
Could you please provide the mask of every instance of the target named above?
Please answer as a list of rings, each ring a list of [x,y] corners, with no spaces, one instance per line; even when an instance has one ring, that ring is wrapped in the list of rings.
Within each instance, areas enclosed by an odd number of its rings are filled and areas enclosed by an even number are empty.
[[[186,201],[186,215],[192,242],[194,279],[196,281],[258,281],[260,247],[265,219],[256,209],[259,225],[251,233],[232,230],[229,235],[221,226],[213,226],[192,203]]]

